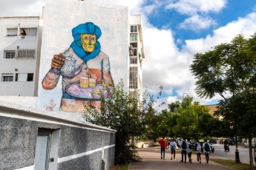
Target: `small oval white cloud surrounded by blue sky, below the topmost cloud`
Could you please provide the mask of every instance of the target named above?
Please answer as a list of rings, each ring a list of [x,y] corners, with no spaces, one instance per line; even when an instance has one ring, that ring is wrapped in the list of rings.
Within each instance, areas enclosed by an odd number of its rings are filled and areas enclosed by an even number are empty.
[[[212,25],[216,25],[217,23],[210,17],[203,17],[199,15],[191,16],[190,18],[186,18],[183,23],[180,24],[180,28],[185,30],[202,30],[211,27]]]

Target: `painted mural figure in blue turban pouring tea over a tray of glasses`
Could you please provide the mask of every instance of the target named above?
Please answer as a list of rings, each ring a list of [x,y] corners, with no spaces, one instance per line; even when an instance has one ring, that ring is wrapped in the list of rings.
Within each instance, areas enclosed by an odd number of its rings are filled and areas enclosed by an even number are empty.
[[[92,22],[72,29],[73,42],[68,50],[53,55],[51,68],[42,81],[44,89],[56,87],[62,75],[62,101],[59,110],[83,112],[84,103],[100,106],[99,90],[114,84],[108,55],[102,52],[102,32]],[[93,97],[92,97],[93,95]]]

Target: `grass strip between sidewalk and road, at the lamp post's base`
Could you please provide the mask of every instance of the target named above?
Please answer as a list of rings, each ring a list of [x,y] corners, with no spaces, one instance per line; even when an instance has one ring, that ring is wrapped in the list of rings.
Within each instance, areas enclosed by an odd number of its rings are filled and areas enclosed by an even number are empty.
[[[223,159],[212,159],[212,158],[211,158],[211,161],[235,170],[249,170],[249,164],[247,163],[234,163],[234,160],[223,160]],[[256,169],[256,166],[254,166],[254,169]]]

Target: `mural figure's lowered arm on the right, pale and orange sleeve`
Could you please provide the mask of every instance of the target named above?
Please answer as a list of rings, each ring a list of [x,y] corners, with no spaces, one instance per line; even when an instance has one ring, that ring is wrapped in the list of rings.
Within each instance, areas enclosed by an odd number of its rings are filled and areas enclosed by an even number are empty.
[[[108,55],[105,55],[102,61],[102,78],[106,84],[114,84]]]

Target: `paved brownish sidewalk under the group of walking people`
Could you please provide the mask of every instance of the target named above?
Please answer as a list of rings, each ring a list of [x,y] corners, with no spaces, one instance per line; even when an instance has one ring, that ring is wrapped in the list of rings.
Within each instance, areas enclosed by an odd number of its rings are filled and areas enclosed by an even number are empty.
[[[168,169],[179,169],[179,170],[198,170],[198,169],[218,169],[218,170],[228,170],[229,168],[221,166],[217,163],[210,161],[206,163],[206,157],[202,153],[201,159],[202,163],[197,163],[197,155],[192,154],[192,163],[180,163],[181,154],[180,151],[176,151],[175,160],[171,160],[171,152],[169,149],[165,150],[165,160],[161,160],[160,157],[160,146],[154,146],[144,149],[138,149],[140,157],[142,157],[142,162],[131,163],[128,167],[129,170],[168,170]],[[230,169],[229,169],[230,170]]]

